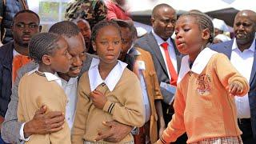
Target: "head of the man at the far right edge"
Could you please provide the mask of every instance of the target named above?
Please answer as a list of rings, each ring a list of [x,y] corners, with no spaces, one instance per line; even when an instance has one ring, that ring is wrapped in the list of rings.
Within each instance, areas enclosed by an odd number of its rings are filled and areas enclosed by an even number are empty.
[[[242,49],[250,47],[254,42],[256,32],[256,13],[252,10],[242,10],[234,18],[234,36]],[[239,47],[239,48],[240,48]]]

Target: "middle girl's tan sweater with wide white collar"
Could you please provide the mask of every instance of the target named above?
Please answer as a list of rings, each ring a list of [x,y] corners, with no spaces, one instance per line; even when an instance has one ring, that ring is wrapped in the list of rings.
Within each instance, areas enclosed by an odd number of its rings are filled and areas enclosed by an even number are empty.
[[[94,143],[98,132],[109,130],[103,121],[117,121],[129,126],[142,126],[145,122],[142,90],[136,75],[121,61],[102,80],[98,71],[99,60],[93,58],[90,70],[82,74],[78,83],[78,104],[72,133],[73,143]],[[94,106],[90,92],[99,90],[107,101],[103,110]],[[133,143],[128,134],[119,143]],[[97,143],[110,143],[99,141]]]

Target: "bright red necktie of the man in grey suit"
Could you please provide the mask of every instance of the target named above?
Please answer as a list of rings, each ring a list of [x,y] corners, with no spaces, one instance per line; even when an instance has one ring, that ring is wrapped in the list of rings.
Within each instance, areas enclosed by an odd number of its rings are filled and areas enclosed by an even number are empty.
[[[165,50],[165,54],[166,54],[166,62],[167,62],[167,67],[170,73],[170,84],[173,86],[177,86],[177,79],[178,79],[178,74],[176,73],[175,69],[174,69],[174,65],[170,60],[170,55],[169,55],[169,51],[168,51],[168,43],[167,42],[163,42],[161,44],[161,46],[163,47],[163,50]]]

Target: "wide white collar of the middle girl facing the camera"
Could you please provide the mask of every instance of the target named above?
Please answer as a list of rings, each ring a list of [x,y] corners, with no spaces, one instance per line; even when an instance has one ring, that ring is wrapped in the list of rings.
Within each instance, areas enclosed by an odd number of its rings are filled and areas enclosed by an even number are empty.
[[[114,87],[117,85],[119,79],[122,77],[122,72],[125,70],[127,64],[118,60],[118,63],[110,71],[110,74],[103,80],[98,71],[99,59],[93,58],[90,69],[88,70],[89,81],[90,81],[90,90],[94,91],[97,86],[104,82],[110,91],[114,90]]]

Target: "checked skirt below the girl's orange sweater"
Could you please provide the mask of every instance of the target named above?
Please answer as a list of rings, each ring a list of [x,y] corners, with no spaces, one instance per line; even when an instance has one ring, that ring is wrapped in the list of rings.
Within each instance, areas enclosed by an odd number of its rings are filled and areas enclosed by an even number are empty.
[[[242,144],[240,137],[208,138],[193,144]]]

